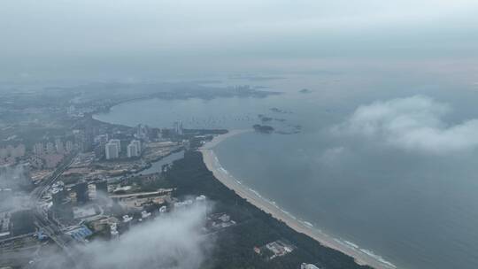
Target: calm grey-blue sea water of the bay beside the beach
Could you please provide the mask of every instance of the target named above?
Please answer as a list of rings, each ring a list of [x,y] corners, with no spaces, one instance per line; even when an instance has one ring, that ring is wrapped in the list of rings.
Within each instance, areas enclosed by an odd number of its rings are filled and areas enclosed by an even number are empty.
[[[425,154],[331,130],[358,106],[414,95],[450,104],[447,124],[478,118],[478,92],[430,78],[343,79],[335,74],[250,81],[266,98],[144,100],[96,119],[135,126],[245,128],[271,118],[281,133],[233,136],[214,150],[224,169],[327,234],[398,268],[478,268],[478,152]],[[224,83],[236,83],[227,81]],[[437,86],[441,85],[441,86]],[[298,90],[310,88],[312,93]],[[271,110],[277,108],[278,110]],[[372,253],[371,253],[372,254]]]

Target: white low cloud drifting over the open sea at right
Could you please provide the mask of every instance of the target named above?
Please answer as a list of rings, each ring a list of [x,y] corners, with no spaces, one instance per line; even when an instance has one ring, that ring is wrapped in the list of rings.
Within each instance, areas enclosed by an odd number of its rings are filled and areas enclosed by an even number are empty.
[[[478,119],[447,124],[443,116],[449,104],[428,96],[412,96],[362,105],[343,124],[333,127],[335,135],[359,135],[373,142],[402,150],[447,153],[478,146]]]

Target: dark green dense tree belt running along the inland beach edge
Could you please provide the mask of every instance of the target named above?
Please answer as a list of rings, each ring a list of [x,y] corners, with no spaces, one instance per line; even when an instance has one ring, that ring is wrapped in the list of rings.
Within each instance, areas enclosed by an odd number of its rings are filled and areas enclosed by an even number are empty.
[[[238,222],[235,227],[215,234],[212,255],[204,268],[299,268],[303,262],[330,269],[370,268],[357,265],[353,258],[320,245],[247,203],[214,178],[197,151],[186,152],[183,159],[174,162],[173,168],[166,173],[166,180],[177,187],[176,196],[208,196],[214,202],[213,211],[227,212]],[[270,261],[253,251],[254,246],[278,239],[288,240],[297,250]]]

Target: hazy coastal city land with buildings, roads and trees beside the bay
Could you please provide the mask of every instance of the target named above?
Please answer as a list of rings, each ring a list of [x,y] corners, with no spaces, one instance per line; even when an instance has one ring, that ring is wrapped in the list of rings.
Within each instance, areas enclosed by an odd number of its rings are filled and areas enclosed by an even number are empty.
[[[164,128],[104,123],[92,115],[131,96],[78,102],[49,90],[57,96],[51,106],[32,104],[37,96],[27,93],[6,96],[0,108],[0,268],[94,268],[83,253],[92,242],[120,244],[137,227],[191,207],[202,211],[199,233],[214,238],[202,268],[356,266],[214,179],[197,149],[227,130],[187,129],[179,120]],[[323,251],[330,261],[319,258]]]

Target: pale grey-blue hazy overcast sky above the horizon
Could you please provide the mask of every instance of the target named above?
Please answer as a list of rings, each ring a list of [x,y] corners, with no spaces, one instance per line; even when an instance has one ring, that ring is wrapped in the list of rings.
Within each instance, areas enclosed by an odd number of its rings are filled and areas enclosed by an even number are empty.
[[[475,59],[473,0],[4,0],[1,81]]]

